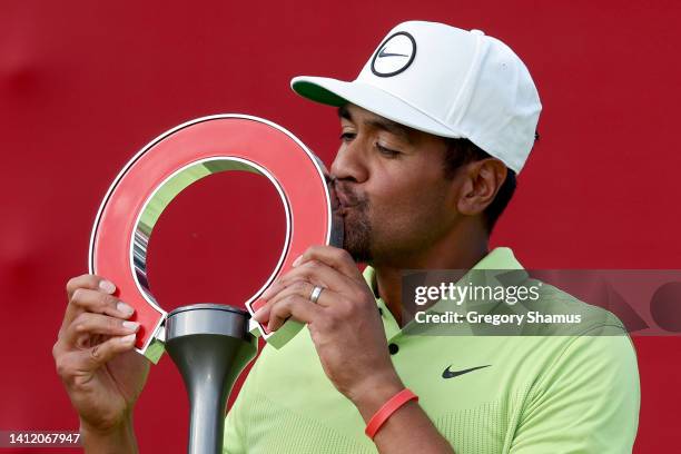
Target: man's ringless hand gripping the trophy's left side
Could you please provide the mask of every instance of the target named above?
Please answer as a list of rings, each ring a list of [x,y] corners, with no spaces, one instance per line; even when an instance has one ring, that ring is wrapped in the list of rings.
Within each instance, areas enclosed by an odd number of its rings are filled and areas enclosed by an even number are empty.
[[[131,436],[135,402],[149,362],[134,351],[134,309],[114,296],[109,280],[82,275],[67,284],[69,304],[52,354],[87,438]]]

